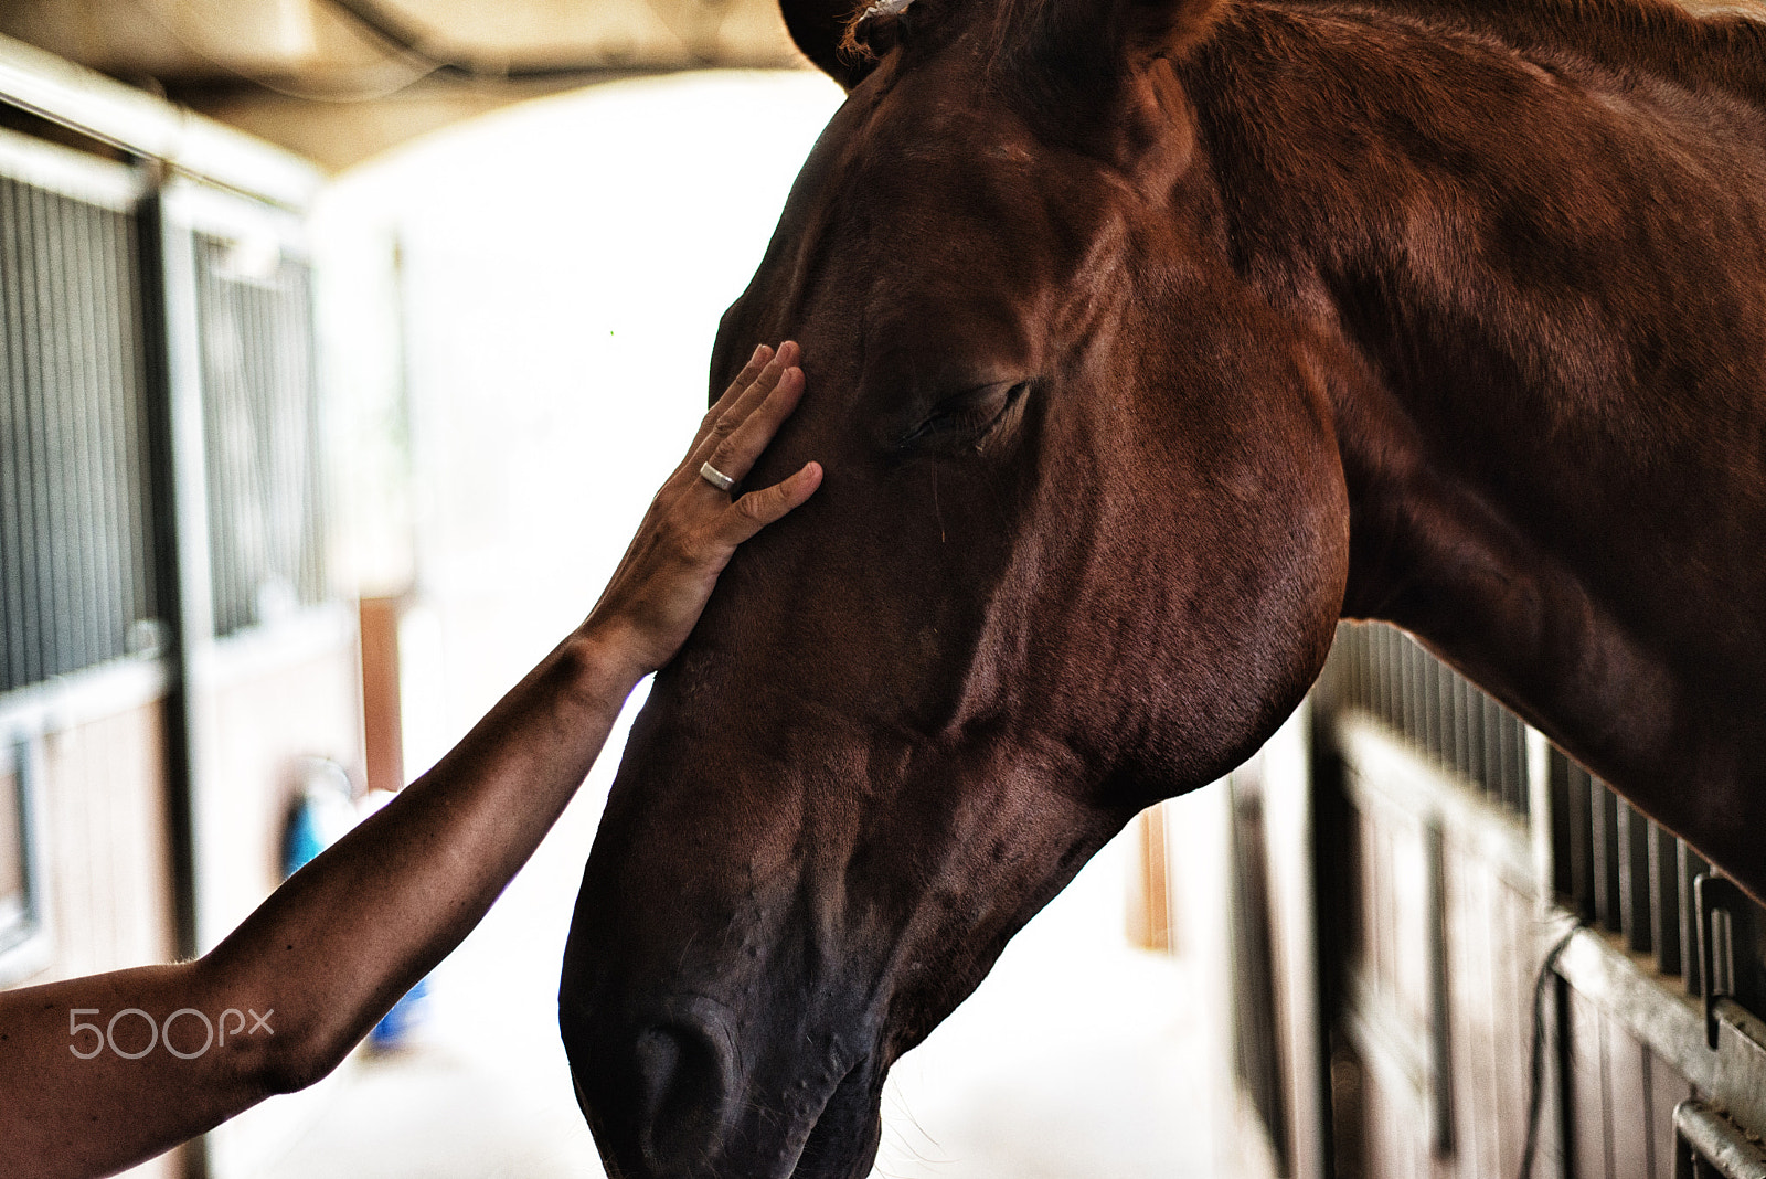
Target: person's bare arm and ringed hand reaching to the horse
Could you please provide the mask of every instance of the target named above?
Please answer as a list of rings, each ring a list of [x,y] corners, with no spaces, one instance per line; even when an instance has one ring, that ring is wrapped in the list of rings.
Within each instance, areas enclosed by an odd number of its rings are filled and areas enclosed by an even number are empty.
[[[814,462],[736,501],[804,390],[796,346],[756,351],[657,492],[588,620],[404,792],[297,872],[214,951],[0,992],[0,1174],[102,1175],[328,1073],[479,923],[581,785],[625,697],[685,641],[736,545],[807,499]],[[120,1011],[124,1052],[83,1059]],[[203,1017],[240,1027],[205,1047]],[[78,1015],[85,1013],[85,1015]],[[251,1013],[249,1017],[245,1013]],[[274,1013],[274,1015],[272,1015]],[[267,1017],[268,1029],[254,1029]],[[249,1031],[254,1029],[254,1031]],[[78,1048],[71,1050],[71,1048]],[[198,1048],[201,1048],[198,1052]]]

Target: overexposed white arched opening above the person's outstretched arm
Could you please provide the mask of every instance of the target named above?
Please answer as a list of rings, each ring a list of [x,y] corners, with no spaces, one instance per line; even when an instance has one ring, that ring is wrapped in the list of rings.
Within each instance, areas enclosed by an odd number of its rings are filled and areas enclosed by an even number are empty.
[[[415,572],[440,644],[410,653],[438,667],[433,699],[406,701],[410,775],[593,605],[692,438],[717,318],[839,99],[807,72],[613,83],[419,141],[325,198],[358,575],[385,591]]]

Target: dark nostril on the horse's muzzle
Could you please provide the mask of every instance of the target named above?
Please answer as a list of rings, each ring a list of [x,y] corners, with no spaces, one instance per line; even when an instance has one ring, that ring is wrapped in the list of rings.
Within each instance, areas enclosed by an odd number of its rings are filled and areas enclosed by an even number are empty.
[[[662,1024],[638,1034],[634,1055],[645,1163],[659,1175],[710,1163],[729,1110],[724,1054],[696,1027]]]

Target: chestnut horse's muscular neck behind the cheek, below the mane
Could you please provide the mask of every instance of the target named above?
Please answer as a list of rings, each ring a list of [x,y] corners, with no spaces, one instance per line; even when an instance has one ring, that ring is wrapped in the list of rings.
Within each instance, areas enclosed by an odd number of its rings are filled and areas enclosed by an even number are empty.
[[[1687,784],[1766,754],[1766,118],[1443,11],[1236,11],[1185,76],[1222,240],[1330,374],[1346,614],[1718,847]]]

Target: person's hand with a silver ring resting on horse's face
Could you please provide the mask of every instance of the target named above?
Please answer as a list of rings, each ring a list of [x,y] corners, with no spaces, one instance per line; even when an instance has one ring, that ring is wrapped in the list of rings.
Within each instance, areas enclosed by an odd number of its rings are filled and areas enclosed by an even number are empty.
[[[710,462],[740,480],[754,468],[779,425],[804,395],[798,346],[754,349],[747,367],[705,415],[687,457],[668,477],[585,632],[615,646],[632,678],[675,657],[712,597],[736,545],[798,507],[821,485],[821,464],[805,462],[789,478],[736,499],[699,475]]]

